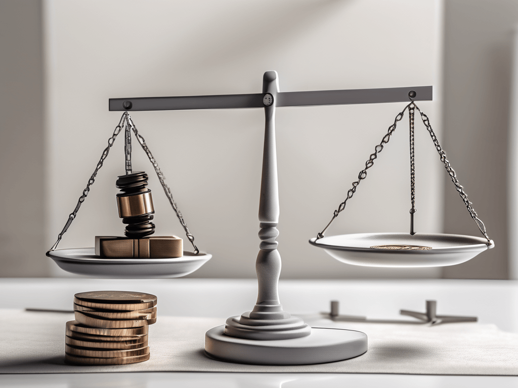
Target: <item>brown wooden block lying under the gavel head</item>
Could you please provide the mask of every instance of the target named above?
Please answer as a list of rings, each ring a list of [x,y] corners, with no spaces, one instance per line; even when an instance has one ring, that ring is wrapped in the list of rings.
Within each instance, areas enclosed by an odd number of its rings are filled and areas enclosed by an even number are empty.
[[[95,255],[118,259],[177,258],[183,256],[183,240],[177,236],[143,238],[95,236]]]

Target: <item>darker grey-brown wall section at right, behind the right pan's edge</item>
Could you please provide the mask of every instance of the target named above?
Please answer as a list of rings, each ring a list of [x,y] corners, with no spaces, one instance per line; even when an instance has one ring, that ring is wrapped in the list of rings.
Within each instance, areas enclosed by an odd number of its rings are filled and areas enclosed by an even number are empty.
[[[507,147],[518,3],[447,0],[444,14],[445,150],[495,248],[445,267],[443,277],[507,279]],[[445,233],[479,235],[446,174],[445,179]]]

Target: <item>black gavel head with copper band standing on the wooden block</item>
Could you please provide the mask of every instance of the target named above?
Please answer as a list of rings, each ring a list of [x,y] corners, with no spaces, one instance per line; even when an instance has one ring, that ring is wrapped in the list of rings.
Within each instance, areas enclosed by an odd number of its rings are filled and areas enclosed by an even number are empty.
[[[141,238],[155,231],[153,219],[153,197],[148,185],[148,174],[143,171],[117,177],[116,186],[119,217],[125,223],[124,234],[130,238]]]

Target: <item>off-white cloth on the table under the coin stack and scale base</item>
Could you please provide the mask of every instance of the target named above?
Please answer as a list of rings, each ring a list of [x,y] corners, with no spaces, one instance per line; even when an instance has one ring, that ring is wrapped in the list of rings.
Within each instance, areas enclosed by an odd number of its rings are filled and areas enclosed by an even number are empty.
[[[205,332],[221,318],[159,316],[150,326],[149,361],[120,366],[64,363],[65,322],[73,314],[0,310],[0,373],[122,371],[349,372],[431,375],[518,375],[518,334],[492,324],[385,324],[305,319],[368,335],[369,350],[355,359],[306,366],[255,366],[211,360]]]

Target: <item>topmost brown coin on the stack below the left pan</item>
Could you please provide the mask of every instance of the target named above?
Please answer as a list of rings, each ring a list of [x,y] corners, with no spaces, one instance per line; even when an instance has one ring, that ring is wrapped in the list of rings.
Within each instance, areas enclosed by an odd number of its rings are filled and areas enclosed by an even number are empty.
[[[77,293],[74,302],[81,306],[93,308],[142,310],[155,306],[156,296],[133,291],[91,291]]]

